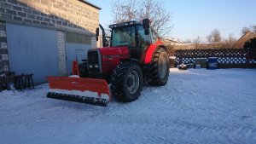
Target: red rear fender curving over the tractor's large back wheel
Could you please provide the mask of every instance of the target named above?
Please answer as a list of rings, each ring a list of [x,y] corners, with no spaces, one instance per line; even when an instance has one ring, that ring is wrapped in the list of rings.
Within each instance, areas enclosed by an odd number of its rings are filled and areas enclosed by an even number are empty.
[[[166,49],[166,51],[167,51],[166,46],[163,45],[162,43],[153,43],[153,44],[150,44],[150,46],[148,47],[146,56],[145,56],[144,64],[150,64],[151,61],[152,61],[154,52],[155,52],[157,49],[160,49],[160,48]]]

